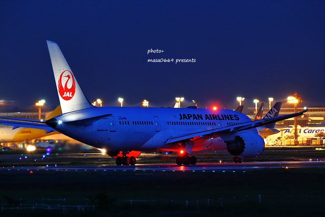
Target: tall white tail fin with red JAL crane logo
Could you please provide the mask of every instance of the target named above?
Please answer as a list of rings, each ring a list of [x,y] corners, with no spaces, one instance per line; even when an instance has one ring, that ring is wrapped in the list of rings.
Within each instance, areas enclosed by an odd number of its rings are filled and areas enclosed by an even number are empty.
[[[62,113],[91,108],[59,46],[47,41]]]

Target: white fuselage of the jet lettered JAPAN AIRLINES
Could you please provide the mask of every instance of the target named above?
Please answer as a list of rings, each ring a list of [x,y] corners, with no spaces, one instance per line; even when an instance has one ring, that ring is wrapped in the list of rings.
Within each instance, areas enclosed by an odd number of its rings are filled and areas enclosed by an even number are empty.
[[[83,119],[96,116],[101,117],[93,122]],[[251,121],[245,114],[227,109],[128,107],[83,109],[62,114],[55,119],[58,123],[55,130],[85,144],[106,150],[136,151],[180,150],[175,143],[166,144],[167,140],[198,130],[218,129]],[[194,137],[192,140],[195,142],[193,151],[202,150],[213,143],[218,146],[218,142],[225,149],[225,142],[218,136],[204,139]]]

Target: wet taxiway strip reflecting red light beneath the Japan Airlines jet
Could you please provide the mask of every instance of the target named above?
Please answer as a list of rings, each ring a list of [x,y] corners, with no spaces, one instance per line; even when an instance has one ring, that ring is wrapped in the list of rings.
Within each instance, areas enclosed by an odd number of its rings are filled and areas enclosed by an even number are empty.
[[[82,165],[82,166],[59,166],[59,165],[45,165],[45,166],[13,166],[2,167],[0,173],[8,174],[12,172],[26,171],[87,171],[87,172],[105,172],[105,171],[201,171],[201,172],[215,172],[215,171],[242,171],[251,169],[264,168],[312,168],[325,167],[325,161],[294,161],[294,162],[254,162],[254,163],[198,163],[196,165],[175,165],[175,164],[138,164],[128,166],[117,165]]]

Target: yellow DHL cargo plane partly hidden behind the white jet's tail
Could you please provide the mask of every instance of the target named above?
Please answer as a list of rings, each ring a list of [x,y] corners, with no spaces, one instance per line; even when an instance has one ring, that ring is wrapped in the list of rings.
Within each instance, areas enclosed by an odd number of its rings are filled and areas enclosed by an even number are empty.
[[[50,115],[45,119],[49,120],[52,117],[55,117],[57,115],[62,114],[61,112],[61,106],[58,106],[56,109],[54,109]],[[34,129],[34,128],[0,128],[0,143],[6,143],[6,142],[24,142],[28,140],[32,140],[35,138],[39,138],[45,135],[52,135],[57,134],[58,132],[51,132],[50,134],[46,134],[46,130],[42,129]]]

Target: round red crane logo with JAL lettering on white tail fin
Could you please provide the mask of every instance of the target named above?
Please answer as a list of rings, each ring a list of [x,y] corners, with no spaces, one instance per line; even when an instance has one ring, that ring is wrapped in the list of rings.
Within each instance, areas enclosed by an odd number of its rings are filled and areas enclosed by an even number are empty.
[[[65,74],[65,76],[63,76],[64,74]],[[62,76],[68,78],[65,81],[64,87],[62,85]],[[72,79],[72,84],[71,84],[71,87],[69,88],[68,84],[71,83],[70,79]],[[74,78],[74,75],[69,70],[62,72],[62,74],[60,75],[60,78],[59,78],[59,83],[57,84],[57,88],[58,88],[59,94],[62,97],[62,99],[71,100],[74,97],[74,95],[75,95],[75,78]]]

